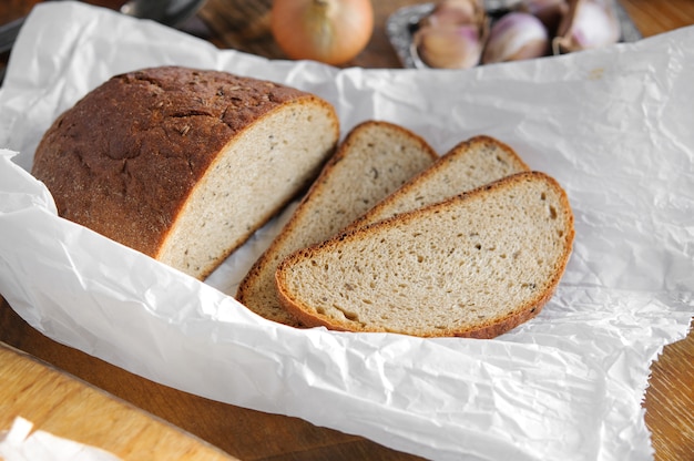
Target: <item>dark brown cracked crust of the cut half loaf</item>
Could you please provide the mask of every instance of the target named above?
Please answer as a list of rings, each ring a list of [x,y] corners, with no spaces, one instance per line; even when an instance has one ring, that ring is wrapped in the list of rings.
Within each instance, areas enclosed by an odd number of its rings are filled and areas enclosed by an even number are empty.
[[[316,102],[327,105],[217,71],[162,66],[116,75],[55,120],[32,174],[60,216],[156,257],[225,145],[282,106]]]

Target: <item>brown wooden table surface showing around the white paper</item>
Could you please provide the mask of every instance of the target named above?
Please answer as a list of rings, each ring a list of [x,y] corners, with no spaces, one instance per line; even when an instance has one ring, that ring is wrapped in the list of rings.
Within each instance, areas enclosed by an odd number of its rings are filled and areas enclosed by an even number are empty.
[[[218,47],[237,48],[267,57],[280,53],[267,37],[263,6],[229,8],[241,0],[208,0],[184,29]],[[692,0],[620,0],[644,37],[694,24]],[[14,19],[35,1],[13,0],[0,6],[0,23]],[[113,7],[113,1],[94,1]],[[350,65],[399,66],[384,31],[385,18],[412,0],[374,1],[376,29],[364,53]],[[245,9],[244,9],[245,8]],[[226,13],[225,13],[226,11]],[[229,14],[229,11],[236,11]],[[225,14],[227,17],[225,17]],[[255,14],[255,16],[254,16]],[[235,16],[235,17],[234,17]],[[246,20],[239,20],[246,18]],[[248,18],[254,18],[249,21]],[[0,57],[0,61],[7,57]],[[415,457],[359,437],[318,428],[306,421],[247,410],[171,389],[79,350],[59,345],[29,327],[2,299],[0,341],[45,360],[134,406],[146,410],[242,460],[408,460]],[[653,432],[656,460],[694,459],[694,331],[665,348],[652,367],[644,408]]]

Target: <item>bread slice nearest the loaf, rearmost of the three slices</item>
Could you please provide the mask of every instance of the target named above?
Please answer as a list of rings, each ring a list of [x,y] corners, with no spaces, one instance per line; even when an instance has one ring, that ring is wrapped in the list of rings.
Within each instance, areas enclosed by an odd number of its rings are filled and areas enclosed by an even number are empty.
[[[296,249],[331,237],[436,158],[425,140],[399,125],[367,121],[354,127],[290,221],[242,280],[237,300],[267,319],[298,326],[275,293],[279,262]]]

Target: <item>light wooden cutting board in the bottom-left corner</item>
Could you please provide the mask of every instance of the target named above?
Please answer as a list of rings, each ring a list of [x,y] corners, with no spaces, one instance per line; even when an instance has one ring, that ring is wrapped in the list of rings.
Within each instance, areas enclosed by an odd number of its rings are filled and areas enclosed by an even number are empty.
[[[0,342],[0,431],[22,417],[123,460],[236,460],[130,403]]]

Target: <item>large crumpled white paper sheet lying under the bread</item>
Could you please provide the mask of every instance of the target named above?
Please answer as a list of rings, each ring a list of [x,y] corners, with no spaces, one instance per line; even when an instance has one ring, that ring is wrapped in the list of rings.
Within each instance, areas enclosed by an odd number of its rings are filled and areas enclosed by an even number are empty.
[[[492,340],[298,330],[229,296],[288,212],[206,284],[58,218],[27,173],[44,130],[111,75],[160,64],[314,92],[343,133],[378,119],[439,153],[476,134],[510,144],[573,206],[555,296]],[[338,70],[41,4],[0,90],[0,294],[47,336],[151,380],[426,458],[649,460],[649,367],[694,315],[693,79],[693,28],[470,71]]]

